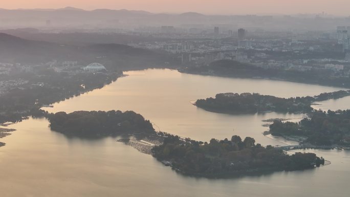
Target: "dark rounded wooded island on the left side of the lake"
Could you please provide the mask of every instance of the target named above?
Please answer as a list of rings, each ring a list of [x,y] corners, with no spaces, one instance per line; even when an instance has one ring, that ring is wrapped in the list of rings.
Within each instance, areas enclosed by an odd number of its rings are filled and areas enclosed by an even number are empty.
[[[132,111],[78,111],[67,114],[47,114],[50,127],[55,132],[74,137],[106,137],[123,134],[155,135],[149,120]]]

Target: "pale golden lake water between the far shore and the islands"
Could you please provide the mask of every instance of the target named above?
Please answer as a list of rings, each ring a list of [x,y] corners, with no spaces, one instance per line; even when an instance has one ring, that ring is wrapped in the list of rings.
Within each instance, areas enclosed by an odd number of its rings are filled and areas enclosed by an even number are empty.
[[[341,90],[335,87],[262,79],[233,79],[182,74],[173,70],[150,69],[126,72],[127,77],[103,89],[54,104],[50,112],[78,110],[132,110],[154,122],[161,130],[209,141],[232,135],[250,136],[267,145],[278,143],[262,137],[267,128],[261,120],[301,118],[293,114],[225,115],[206,112],[190,101],[214,97],[217,93],[254,92],[279,97],[318,95]]]

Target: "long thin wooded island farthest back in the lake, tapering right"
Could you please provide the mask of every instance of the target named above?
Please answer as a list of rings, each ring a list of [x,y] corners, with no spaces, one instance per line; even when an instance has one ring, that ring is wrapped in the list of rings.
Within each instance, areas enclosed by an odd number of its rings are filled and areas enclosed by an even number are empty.
[[[282,112],[282,113],[310,113],[313,111],[311,104],[315,101],[338,99],[349,96],[350,91],[337,91],[321,93],[311,97],[279,98],[257,93],[224,93],[217,94],[215,98],[199,99],[195,105],[204,110],[217,113],[240,114],[257,112]]]

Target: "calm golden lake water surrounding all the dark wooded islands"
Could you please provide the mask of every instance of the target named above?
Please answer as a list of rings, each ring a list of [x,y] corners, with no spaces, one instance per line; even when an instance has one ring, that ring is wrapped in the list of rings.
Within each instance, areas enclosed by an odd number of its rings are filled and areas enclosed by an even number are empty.
[[[283,145],[262,136],[266,127],[261,126],[261,120],[298,121],[301,115],[223,115],[196,108],[190,101],[223,92],[291,97],[340,90],[170,70],[127,74],[103,89],[56,103],[48,110],[133,110],[154,122],[156,128],[196,140],[240,135],[254,137],[264,145]],[[350,108],[348,102],[340,104],[338,100],[318,106]],[[25,120],[11,125],[17,131],[1,139],[7,143],[0,148],[1,196],[348,196],[350,151],[308,150],[332,161],[332,165],[313,170],[230,180],[196,179],[183,177],[113,138],[70,139],[52,132],[48,124],[45,119]]]

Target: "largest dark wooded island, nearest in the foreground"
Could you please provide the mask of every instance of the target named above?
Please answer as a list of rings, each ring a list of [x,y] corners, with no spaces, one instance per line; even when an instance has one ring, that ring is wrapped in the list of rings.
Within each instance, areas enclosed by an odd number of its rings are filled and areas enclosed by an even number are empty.
[[[288,155],[271,145],[255,144],[253,138],[242,140],[239,136],[203,143],[168,135],[162,145],[152,149],[152,154],[159,161],[169,161],[184,174],[213,178],[307,169],[324,164],[322,158],[312,153]]]

